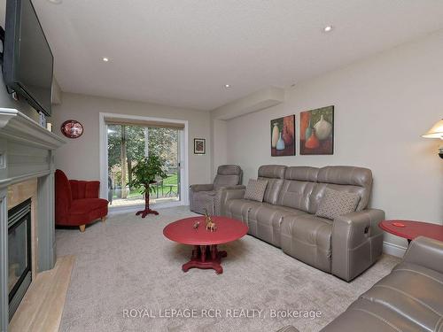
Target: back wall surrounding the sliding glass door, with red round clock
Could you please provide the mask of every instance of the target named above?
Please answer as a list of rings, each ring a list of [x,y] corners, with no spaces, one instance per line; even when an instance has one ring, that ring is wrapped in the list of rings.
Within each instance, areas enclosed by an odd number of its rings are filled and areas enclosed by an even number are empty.
[[[54,131],[66,120],[78,120],[83,125],[83,135],[66,138],[67,143],[56,151],[55,164],[71,179],[98,180],[99,174],[99,120],[100,112],[130,114],[189,121],[189,181],[210,181],[210,114],[209,112],[179,109],[159,104],[138,103],[126,100],[63,94],[63,103],[53,106]],[[193,138],[206,138],[206,155],[194,155]]]

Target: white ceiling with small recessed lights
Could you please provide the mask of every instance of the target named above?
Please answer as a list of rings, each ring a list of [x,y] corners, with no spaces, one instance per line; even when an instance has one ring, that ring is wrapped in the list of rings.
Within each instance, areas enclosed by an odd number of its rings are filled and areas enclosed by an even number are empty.
[[[441,0],[33,3],[64,91],[201,110],[443,28]]]

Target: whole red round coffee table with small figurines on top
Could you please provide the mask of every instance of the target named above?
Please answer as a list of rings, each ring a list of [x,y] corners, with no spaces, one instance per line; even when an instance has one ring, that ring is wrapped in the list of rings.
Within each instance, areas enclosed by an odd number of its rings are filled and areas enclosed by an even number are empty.
[[[226,251],[218,251],[217,245],[235,241],[248,232],[247,226],[238,220],[227,217],[213,216],[217,225],[214,232],[206,230],[205,217],[190,217],[174,221],[163,229],[163,234],[172,241],[194,246],[192,256],[182,269],[187,272],[192,267],[213,268],[216,274],[222,274],[221,258],[226,257]],[[194,228],[196,222],[198,228]]]

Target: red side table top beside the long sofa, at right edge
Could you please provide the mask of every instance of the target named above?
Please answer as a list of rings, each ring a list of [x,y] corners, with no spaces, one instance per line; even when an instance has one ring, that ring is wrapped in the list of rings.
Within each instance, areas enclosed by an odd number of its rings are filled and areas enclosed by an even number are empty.
[[[443,226],[413,220],[383,220],[378,224],[388,233],[408,239],[408,243],[417,236],[426,236],[443,241]]]

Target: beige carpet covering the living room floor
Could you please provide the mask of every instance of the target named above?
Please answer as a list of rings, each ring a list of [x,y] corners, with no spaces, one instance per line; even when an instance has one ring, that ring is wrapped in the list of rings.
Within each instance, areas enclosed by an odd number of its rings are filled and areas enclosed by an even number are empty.
[[[221,246],[228,251],[223,274],[183,273],[190,247],[167,240],[162,230],[193,214],[187,207],[159,212],[144,220],[115,215],[83,234],[56,231],[58,256],[76,255],[60,331],[276,331],[289,324],[318,331],[399,261],[384,256],[347,283],[247,235]],[[171,309],[176,315],[193,309],[194,317],[160,317]],[[202,317],[210,309],[221,317]],[[250,317],[236,317],[246,310]],[[273,310],[319,311],[321,317],[276,319]]]

